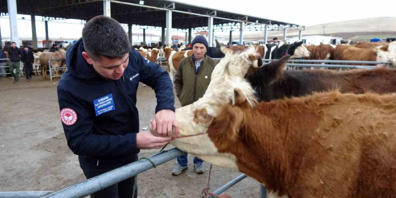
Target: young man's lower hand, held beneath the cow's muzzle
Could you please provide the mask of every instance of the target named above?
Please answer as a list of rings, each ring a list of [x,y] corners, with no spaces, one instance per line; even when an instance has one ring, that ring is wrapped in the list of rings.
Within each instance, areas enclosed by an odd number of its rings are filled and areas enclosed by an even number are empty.
[[[136,134],[136,146],[139,149],[161,148],[171,141],[169,137],[156,137],[148,131]]]

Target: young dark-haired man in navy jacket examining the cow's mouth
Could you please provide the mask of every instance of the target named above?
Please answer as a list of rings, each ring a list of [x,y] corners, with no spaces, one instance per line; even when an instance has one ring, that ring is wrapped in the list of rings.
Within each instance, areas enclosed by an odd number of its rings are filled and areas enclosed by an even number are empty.
[[[116,20],[101,15],[88,21],[67,51],[66,65],[57,88],[61,121],[87,179],[136,161],[140,149],[161,148],[172,126],[178,130],[168,72],[132,49]],[[139,132],[139,82],[156,93],[155,136]],[[136,198],[135,177],[91,194],[97,197]]]

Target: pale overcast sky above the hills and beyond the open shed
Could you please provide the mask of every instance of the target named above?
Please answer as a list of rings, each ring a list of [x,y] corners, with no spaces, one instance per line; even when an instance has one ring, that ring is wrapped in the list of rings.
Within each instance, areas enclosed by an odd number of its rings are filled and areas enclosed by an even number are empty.
[[[230,3],[229,0],[176,1],[305,26],[372,17],[396,17],[396,12],[392,11],[392,9],[387,9],[396,8],[395,0],[376,0],[375,2],[367,3],[357,0],[283,0],[270,1],[270,4],[266,4],[268,1],[265,0],[244,0],[239,3]],[[22,17],[25,17],[27,20],[21,20]],[[19,36],[31,37],[30,16],[18,15],[18,19],[20,19],[18,20]],[[36,17],[37,36],[45,37],[44,22],[39,20],[41,20],[41,17]],[[73,19],[51,21],[48,23],[49,37],[79,38],[81,37],[81,30],[84,25],[78,23],[80,23],[80,20]],[[0,25],[2,36],[10,37],[9,19],[7,17],[0,17]],[[142,33],[143,30],[133,29],[133,32]],[[157,35],[161,34],[160,30],[147,30],[146,32]],[[172,32],[172,34],[184,35],[184,33],[179,32]],[[215,32],[215,35],[220,34],[228,34],[228,32]]]

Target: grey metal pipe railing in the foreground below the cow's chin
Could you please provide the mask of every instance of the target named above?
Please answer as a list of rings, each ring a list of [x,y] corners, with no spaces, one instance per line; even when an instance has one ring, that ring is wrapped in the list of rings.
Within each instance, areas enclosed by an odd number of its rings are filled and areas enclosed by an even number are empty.
[[[74,184],[70,187],[64,188],[57,192],[55,191],[25,191],[25,192],[0,192],[0,198],[78,198],[88,194],[97,192],[103,188],[114,185],[120,181],[131,178],[139,173],[143,173],[151,168],[164,164],[170,160],[173,160],[179,156],[182,156],[185,152],[172,147],[154,155],[148,156],[147,158],[141,158],[136,162],[127,164],[120,168],[116,168],[107,173],[103,173],[91,179],[87,179],[80,183]],[[228,182],[219,189],[213,191],[213,193],[219,195],[228,188],[232,187],[236,183],[245,179],[247,176],[242,174],[232,181]],[[267,197],[267,190],[260,185],[260,198]]]

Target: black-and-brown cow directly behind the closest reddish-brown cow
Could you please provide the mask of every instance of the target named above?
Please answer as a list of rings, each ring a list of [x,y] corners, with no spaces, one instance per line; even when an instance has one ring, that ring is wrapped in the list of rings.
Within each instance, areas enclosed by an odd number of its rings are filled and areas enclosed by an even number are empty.
[[[396,69],[386,68],[283,70],[282,65],[267,65],[247,79],[253,87],[258,87],[256,90],[263,101],[337,89],[341,93],[396,93]]]

